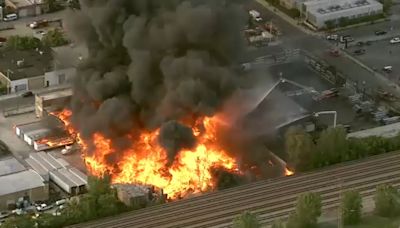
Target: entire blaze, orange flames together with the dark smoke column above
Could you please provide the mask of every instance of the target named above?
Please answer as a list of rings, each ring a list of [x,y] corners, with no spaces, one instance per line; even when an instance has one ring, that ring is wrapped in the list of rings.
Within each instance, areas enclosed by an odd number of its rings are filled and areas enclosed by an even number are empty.
[[[243,175],[241,163],[260,162],[254,141],[229,137],[226,104],[243,84],[233,70],[244,50],[240,2],[81,1],[67,27],[89,56],[59,116],[92,175],[178,198],[216,188],[213,170]]]

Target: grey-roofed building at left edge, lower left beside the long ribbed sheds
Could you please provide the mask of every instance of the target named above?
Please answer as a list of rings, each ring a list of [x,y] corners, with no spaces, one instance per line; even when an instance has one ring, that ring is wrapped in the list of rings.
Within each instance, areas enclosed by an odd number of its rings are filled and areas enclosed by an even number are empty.
[[[12,208],[20,197],[28,197],[32,202],[49,198],[46,181],[15,158],[0,160],[0,186],[0,210]]]

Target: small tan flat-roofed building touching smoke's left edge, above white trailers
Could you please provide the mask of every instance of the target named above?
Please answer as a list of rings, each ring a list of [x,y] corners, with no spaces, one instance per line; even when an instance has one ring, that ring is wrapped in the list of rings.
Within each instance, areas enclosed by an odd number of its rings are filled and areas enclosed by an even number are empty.
[[[50,112],[65,107],[72,97],[72,89],[44,92],[35,95],[35,113],[37,118],[47,116]]]

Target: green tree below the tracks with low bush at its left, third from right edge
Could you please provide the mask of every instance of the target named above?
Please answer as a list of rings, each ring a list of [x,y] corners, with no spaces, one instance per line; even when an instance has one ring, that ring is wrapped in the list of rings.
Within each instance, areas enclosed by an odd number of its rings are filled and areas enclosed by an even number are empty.
[[[289,216],[287,228],[317,227],[321,216],[321,197],[316,193],[304,193],[297,199],[296,211]]]

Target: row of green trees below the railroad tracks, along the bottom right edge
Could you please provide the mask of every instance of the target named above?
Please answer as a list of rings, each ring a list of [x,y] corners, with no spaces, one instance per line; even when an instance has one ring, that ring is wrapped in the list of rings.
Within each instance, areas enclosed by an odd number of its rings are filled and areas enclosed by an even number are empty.
[[[362,197],[359,192],[349,190],[340,197],[340,223],[356,225],[362,221]],[[400,216],[400,192],[391,185],[379,185],[374,195],[374,214],[385,218]],[[272,228],[314,228],[318,227],[318,218],[322,213],[320,195],[308,192],[300,195],[295,211],[289,215],[286,222],[277,220]],[[256,214],[245,211],[233,221],[234,228],[261,228]]]

